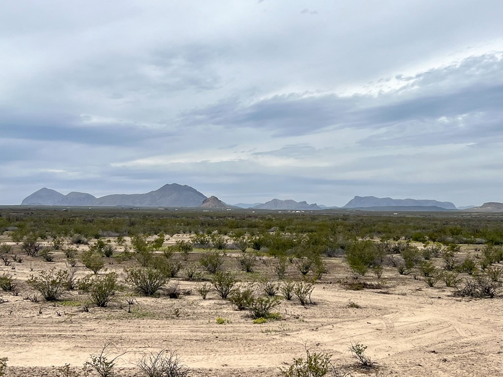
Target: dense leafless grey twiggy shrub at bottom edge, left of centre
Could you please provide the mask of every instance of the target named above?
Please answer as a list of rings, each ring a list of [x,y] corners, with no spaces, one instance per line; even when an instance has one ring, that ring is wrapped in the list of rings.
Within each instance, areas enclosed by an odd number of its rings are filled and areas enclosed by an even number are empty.
[[[148,377],[187,377],[189,367],[180,363],[174,351],[149,352],[136,364]]]

